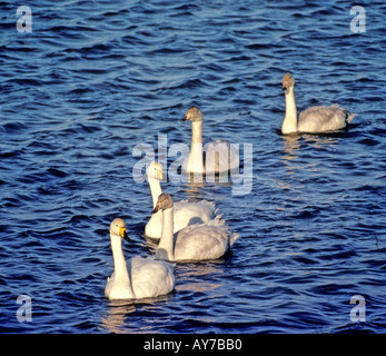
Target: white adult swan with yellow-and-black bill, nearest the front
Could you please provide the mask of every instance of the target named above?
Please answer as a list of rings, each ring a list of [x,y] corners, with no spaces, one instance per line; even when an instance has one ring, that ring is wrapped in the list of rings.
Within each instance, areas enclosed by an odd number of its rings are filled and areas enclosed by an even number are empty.
[[[175,289],[174,265],[152,256],[136,256],[127,268],[121,238],[127,237],[126,224],[116,218],[110,225],[113,274],[107,279],[105,296],[109,299],[140,299],[165,295]]]

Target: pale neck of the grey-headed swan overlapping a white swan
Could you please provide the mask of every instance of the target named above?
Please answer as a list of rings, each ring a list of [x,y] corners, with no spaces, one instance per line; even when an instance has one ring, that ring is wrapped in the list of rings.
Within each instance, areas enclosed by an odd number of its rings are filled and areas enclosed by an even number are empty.
[[[164,260],[175,260],[175,236],[174,236],[174,208],[165,209],[162,233],[159,240],[156,258]]]

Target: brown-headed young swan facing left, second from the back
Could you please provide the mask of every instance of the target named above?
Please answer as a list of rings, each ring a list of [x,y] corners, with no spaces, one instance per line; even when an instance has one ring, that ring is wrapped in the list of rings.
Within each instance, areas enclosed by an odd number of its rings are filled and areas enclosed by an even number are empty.
[[[239,169],[238,151],[228,142],[217,140],[202,147],[202,112],[199,108],[190,108],[182,121],[191,121],[191,147],[189,157],[182,164],[188,174],[219,175]],[[204,151],[205,162],[204,162]]]

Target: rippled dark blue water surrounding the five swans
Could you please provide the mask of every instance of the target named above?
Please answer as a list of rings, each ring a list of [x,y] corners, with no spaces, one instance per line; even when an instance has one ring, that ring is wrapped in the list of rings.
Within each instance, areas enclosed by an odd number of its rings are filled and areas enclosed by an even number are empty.
[[[0,8],[1,332],[385,333],[383,1],[362,33],[350,1],[39,0],[23,33],[14,2]],[[299,108],[339,102],[352,127],[283,137],[287,71]],[[254,145],[253,189],[164,189],[214,200],[240,238],[178,265],[174,294],[111,303],[112,218],[128,224],[127,257],[151,251],[133,148],[189,144],[192,105],[206,138]],[[350,320],[355,295],[365,322]]]

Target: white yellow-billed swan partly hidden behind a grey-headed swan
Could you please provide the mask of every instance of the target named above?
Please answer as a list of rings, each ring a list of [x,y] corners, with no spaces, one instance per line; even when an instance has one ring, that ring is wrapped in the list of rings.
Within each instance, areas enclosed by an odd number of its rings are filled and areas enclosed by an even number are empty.
[[[162,192],[160,179],[164,177],[162,166],[158,162],[151,162],[146,170],[152,197],[152,208],[157,205],[157,199]],[[208,222],[217,212],[215,204],[200,200],[189,202],[188,200],[175,202],[175,225],[174,233],[191,224]],[[150,220],[145,226],[145,235],[155,239],[161,237],[162,231],[162,211],[152,214]]]

